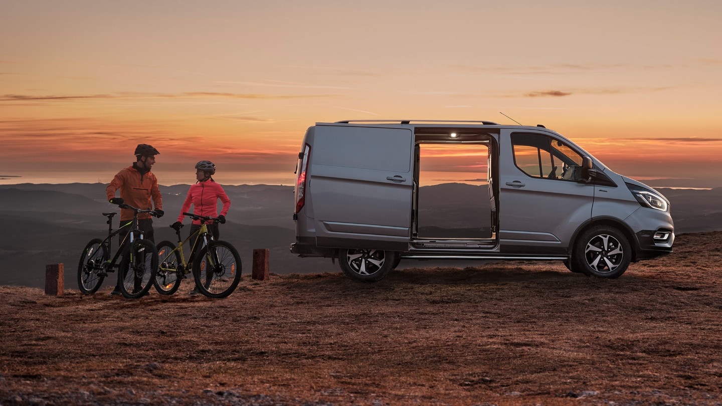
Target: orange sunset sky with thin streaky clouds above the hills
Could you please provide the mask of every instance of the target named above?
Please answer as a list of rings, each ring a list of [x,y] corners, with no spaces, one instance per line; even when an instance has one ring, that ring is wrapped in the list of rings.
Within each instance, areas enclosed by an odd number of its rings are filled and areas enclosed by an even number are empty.
[[[316,121],[544,124],[722,186],[722,1],[0,0],[0,183],[292,184]],[[12,176],[12,177],[7,177]]]

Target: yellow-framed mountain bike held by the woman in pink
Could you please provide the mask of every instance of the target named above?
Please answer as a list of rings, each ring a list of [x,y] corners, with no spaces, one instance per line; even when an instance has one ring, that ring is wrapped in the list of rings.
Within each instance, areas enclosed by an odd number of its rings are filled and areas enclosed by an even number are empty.
[[[193,279],[200,293],[209,298],[225,298],[240,282],[240,256],[227,241],[214,241],[213,234],[206,224],[217,223],[218,217],[206,217],[183,213],[193,220],[201,220],[201,228],[181,241],[181,228],[175,230],[178,246],[170,241],[157,244],[158,268],[153,285],[161,295],[173,295],[181,280],[186,278],[188,269],[193,271]],[[182,227],[183,225],[181,225]],[[173,225],[170,226],[173,228]],[[193,241],[191,256],[186,262],[183,246]]]

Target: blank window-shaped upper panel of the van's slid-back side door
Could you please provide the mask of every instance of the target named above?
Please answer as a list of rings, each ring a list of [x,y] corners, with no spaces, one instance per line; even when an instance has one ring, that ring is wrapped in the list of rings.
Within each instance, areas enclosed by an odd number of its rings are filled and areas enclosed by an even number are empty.
[[[316,126],[313,164],[409,172],[412,131],[373,127]]]

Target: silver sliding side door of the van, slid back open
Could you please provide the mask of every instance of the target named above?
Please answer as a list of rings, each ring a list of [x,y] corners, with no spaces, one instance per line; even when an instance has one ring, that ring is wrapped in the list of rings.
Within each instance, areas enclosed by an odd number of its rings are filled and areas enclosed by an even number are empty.
[[[309,195],[318,246],[408,251],[411,129],[317,125]]]

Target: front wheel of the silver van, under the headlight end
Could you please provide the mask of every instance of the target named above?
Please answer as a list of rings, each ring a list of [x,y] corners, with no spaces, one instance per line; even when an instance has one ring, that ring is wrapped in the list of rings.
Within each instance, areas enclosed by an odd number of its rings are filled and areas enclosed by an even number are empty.
[[[606,225],[592,227],[577,238],[572,253],[572,268],[585,275],[614,279],[621,276],[632,260],[627,236]]]

